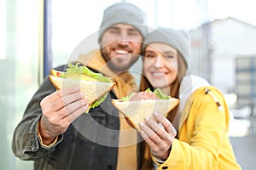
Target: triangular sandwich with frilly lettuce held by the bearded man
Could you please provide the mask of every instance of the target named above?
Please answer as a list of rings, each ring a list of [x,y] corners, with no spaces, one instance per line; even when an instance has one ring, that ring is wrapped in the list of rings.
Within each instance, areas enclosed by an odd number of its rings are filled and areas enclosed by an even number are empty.
[[[100,105],[115,86],[115,82],[110,77],[90,71],[88,67],[79,63],[75,65],[69,63],[65,72],[51,70],[49,80],[57,89],[79,86],[84,98],[89,102],[89,109],[86,112]]]

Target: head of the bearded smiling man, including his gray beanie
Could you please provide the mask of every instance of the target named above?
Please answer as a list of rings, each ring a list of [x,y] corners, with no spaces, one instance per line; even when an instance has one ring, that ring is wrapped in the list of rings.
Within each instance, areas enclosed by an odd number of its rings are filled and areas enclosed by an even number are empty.
[[[137,61],[148,32],[143,11],[123,4],[117,3],[104,11],[98,36],[102,56],[114,72],[127,71]]]

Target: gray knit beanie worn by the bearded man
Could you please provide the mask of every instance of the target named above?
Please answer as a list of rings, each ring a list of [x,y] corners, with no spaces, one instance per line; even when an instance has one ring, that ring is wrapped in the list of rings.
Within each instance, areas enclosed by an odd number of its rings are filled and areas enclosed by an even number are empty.
[[[134,4],[124,2],[114,3],[104,10],[98,42],[101,41],[102,35],[107,31],[108,27],[115,24],[129,24],[135,26],[143,37],[145,37],[148,33],[146,22],[146,14]]]

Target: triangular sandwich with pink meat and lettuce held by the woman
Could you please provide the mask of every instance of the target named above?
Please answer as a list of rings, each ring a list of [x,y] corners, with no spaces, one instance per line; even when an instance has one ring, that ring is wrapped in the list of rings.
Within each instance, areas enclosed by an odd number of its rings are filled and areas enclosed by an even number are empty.
[[[123,99],[112,99],[112,103],[131,127],[141,131],[139,123],[144,122],[146,116],[153,118],[154,112],[167,116],[178,105],[179,99],[163,94],[160,88],[154,92],[148,88]]]

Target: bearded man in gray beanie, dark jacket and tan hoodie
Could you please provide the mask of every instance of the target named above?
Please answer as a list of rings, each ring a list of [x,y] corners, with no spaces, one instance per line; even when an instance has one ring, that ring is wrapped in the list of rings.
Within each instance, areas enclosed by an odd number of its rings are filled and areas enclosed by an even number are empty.
[[[105,9],[98,42],[100,50],[80,55],[91,70],[113,77],[116,87],[101,105],[90,109],[79,88],[56,91],[45,79],[15,128],[12,149],[34,169],[141,169],[143,152],[137,135],[119,117],[111,98],[124,97],[136,88],[127,71],[141,53],[147,34],[145,14],[131,3]],[[66,65],[56,70],[64,71]],[[131,136],[127,133],[133,132]],[[128,143],[127,139],[129,139]],[[131,141],[130,141],[131,139]]]

